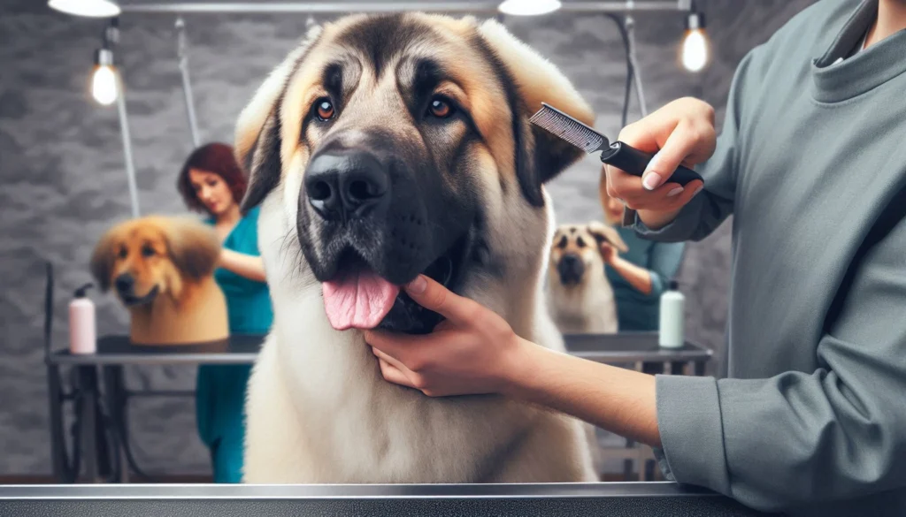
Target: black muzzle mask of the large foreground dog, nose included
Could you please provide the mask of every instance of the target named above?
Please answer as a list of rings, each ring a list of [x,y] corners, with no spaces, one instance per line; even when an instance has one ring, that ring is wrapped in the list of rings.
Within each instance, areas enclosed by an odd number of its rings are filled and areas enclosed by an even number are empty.
[[[425,273],[456,291],[477,218],[467,177],[451,185],[448,171],[380,130],[358,142],[325,142],[305,170],[296,229],[315,278],[370,270],[404,285]],[[426,333],[440,320],[400,292],[379,328]]]

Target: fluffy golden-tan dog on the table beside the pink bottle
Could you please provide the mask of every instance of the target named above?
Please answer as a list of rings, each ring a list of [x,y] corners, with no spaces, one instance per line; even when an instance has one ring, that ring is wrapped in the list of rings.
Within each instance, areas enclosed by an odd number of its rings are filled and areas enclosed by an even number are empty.
[[[229,336],[213,273],[214,230],[185,217],[148,216],[113,226],[94,248],[92,274],[130,311],[134,344],[191,344]]]

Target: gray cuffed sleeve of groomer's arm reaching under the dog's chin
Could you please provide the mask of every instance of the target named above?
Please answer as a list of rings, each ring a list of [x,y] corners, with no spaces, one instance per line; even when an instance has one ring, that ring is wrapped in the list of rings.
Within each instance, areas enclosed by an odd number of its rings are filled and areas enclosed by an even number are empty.
[[[819,368],[773,378],[658,376],[660,464],[763,511],[906,479],[906,222],[872,249],[818,342]],[[795,348],[790,343],[790,348]]]

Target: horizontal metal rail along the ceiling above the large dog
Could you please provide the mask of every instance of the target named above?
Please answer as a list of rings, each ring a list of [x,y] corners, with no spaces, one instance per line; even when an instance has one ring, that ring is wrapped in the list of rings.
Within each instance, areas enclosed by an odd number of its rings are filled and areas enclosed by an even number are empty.
[[[564,2],[566,13],[628,13],[682,11],[682,0],[632,3]],[[445,13],[496,12],[500,2],[130,2],[120,8],[124,13],[395,13],[432,11]]]

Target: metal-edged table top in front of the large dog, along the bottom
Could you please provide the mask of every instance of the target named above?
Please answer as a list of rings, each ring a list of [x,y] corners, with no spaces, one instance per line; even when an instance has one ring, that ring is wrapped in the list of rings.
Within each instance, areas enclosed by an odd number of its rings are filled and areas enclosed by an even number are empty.
[[[0,517],[762,515],[675,483],[0,486]]]

